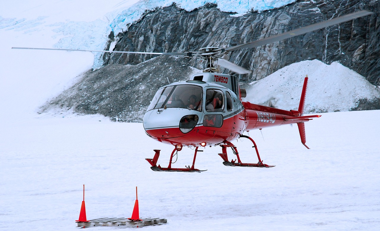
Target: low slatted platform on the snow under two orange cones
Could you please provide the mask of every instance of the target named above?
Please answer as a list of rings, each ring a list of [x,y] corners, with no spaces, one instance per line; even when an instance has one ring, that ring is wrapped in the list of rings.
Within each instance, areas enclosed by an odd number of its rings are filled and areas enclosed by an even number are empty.
[[[89,220],[89,222],[76,222],[77,227],[95,227],[95,226],[146,226],[146,225],[162,225],[163,223],[167,223],[166,219],[162,218],[140,218],[141,221],[131,221],[128,218],[116,218],[116,217],[103,217],[97,218],[93,220]]]

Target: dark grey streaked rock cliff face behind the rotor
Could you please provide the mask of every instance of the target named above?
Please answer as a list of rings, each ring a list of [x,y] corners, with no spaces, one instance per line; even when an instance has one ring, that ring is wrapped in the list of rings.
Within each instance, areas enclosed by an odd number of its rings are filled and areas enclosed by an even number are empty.
[[[182,52],[206,46],[235,46],[277,35],[285,31],[366,9],[380,13],[377,0],[300,0],[291,5],[264,12],[234,17],[220,12],[215,5],[187,12],[176,5],[147,13],[128,31],[118,35],[115,50],[145,52]],[[243,81],[258,80],[291,63],[318,59],[339,61],[380,85],[380,15],[318,30],[306,35],[253,49],[231,52],[228,60],[250,69]],[[105,54],[105,64],[137,64],[154,55]],[[192,66],[203,69],[200,60]],[[228,70],[222,69],[223,72]]]

